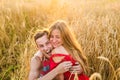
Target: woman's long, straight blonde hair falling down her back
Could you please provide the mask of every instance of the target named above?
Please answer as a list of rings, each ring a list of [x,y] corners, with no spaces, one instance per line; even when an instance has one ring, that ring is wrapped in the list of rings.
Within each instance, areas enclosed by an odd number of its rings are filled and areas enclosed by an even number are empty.
[[[65,49],[69,52],[70,55],[72,55],[73,58],[75,58],[81,64],[84,72],[87,72],[87,58],[85,54],[83,54],[83,51],[78,41],[76,40],[75,35],[73,34],[73,32],[70,31],[68,25],[64,21],[59,20],[50,26],[50,34],[55,29],[60,31],[63,46],[65,47]]]

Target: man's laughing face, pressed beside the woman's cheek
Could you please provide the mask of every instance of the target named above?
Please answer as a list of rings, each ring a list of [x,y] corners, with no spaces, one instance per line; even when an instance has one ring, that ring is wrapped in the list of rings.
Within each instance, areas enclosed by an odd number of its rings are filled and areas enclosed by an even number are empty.
[[[42,37],[38,38],[36,40],[36,44],[37,44],[38,49],[42,53],[50,55],[50,52],[52,51],[52,45],[46,34],[43,35]]]

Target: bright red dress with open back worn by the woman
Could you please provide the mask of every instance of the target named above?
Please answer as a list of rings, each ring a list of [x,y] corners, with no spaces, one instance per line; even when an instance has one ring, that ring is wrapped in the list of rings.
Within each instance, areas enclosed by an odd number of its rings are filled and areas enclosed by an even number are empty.
[[[53,58],[54,57],[60,57],[60,56],[64,56],[64,58],[58,62],[55,63]],[[59,63],[64,62],[64,61],[71,61],[73,63],[73,65],[75,65],[75,60],[70,56],[70,55],[65,55],[65,54],[53,54],[50,57],[50,70],[52,70],[53,68],[55,68]],[[71,76],[71,77],[70,77]],[[74,80],[74,74],[71,74],[69,71],[64,73],[64,80]],[[70,79],[69,79],[70,78]],[[78,75],[79,80],[89,80],[88,76],[86,76],[85,74],[81,73]]]

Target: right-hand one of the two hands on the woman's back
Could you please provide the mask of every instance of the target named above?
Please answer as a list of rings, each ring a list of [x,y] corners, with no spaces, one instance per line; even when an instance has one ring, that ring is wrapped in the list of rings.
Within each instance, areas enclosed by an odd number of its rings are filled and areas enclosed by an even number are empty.
[[[74,65],[70,68],[70,72],[81,74],[83,72],[83,69],[82,69],[81,65],[78,62],[76,62],[75,64],[76,65]]]

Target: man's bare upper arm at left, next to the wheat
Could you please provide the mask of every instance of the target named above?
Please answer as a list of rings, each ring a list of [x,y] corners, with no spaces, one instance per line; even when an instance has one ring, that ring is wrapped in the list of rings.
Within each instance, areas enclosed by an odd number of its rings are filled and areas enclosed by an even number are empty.
[[[41,59],[38,56],[34,56],[31,59],[30,63],[30,73],[29,73],[29,80],[35,80],[40,75],[40,67],[41,67]]]

